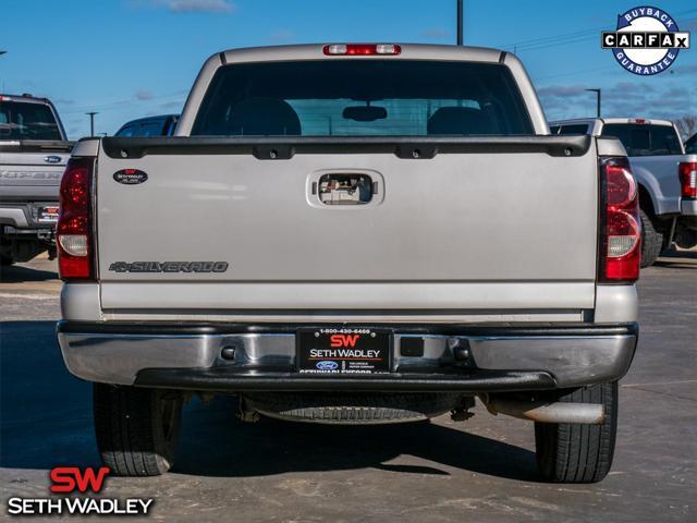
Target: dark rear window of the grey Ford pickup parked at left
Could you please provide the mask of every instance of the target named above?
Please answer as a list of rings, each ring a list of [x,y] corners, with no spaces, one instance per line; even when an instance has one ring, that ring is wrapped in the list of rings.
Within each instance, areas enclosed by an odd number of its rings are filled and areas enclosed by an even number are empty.
[[[62,139],[62,136],[47,105],[0,101],[0,139]]]

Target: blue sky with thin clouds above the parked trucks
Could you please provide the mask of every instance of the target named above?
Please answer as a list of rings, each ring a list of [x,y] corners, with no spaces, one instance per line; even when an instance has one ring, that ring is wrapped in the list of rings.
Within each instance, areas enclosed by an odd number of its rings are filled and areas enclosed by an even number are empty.
[[[515,52],[549,120],[697,114],[697,3],[655,3],[693,33],[669,71],[640,77],[600,48],[637,0],[464,0],[468,46]],[[380,41],[454,44],[455,0],[0,0],[0,93],[57,106],[70,138],[181,111],[212,53],[239,47]]]

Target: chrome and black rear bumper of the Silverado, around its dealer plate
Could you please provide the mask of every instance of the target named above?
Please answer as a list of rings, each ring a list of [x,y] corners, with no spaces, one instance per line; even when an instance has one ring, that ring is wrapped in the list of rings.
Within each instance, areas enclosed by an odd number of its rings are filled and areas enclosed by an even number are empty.
[[[620,379],[638,337],[612,327],[374,326],[394,330],[392,373],[307,377],[295,369],[295,326],[59,323],[65,365],[89,380],[192,390],[511,391]],[[306,327],[303,325],[303,327]],[[404,356],[404,338],[423,356]],[[234,349],[223,358],[223,349]],[[457,357],[463,350],[467,357]]]

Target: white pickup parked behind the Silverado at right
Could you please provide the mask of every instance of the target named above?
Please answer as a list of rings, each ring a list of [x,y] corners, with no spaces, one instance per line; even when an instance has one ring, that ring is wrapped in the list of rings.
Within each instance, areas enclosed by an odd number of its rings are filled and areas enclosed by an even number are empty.
[[[685,154],[675,125],[645,118],[591,118],[550,122],[552,134],[617,137],[639,184],[641,267],[673,242],[697,245],[697,154]]]

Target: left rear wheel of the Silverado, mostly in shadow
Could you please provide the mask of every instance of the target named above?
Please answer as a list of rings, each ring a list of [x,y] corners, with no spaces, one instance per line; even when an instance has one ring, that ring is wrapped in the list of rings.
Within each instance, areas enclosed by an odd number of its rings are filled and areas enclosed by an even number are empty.
[[[182,394],[95,384],[93,402],[97,446],[112,474],[157,476],[170,470],[179,441]]]

